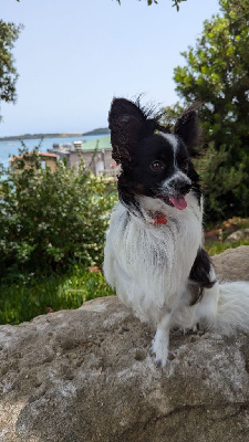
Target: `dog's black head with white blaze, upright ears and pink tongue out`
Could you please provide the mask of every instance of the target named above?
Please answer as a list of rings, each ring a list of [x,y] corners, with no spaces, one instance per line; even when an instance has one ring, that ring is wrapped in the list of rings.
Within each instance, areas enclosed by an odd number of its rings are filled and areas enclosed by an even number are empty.
[[[139,105],[115,98],[108,122],[113,158],[122,166],[118,191],[125,204],[138,207],[137,197],[146,196],[183,210],[190,190],[199,198],[199,177],[191,162],[198,135],[195,110],[186,110],[170,134]]]

